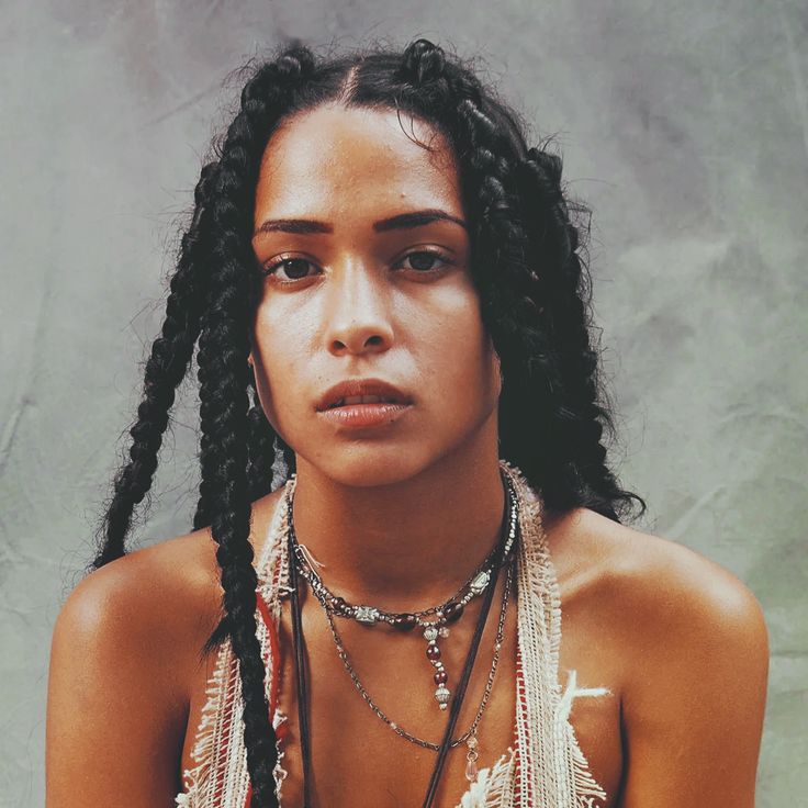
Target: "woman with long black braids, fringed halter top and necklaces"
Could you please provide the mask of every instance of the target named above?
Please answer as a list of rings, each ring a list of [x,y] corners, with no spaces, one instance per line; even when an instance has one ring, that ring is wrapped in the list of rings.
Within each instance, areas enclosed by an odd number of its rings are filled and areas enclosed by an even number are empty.
[[[424,40],[258,67],[55,629],[48,806],[753,805],[761,610],[620,524],[560,175]],[[125,556],[197,343],[195,529]]]

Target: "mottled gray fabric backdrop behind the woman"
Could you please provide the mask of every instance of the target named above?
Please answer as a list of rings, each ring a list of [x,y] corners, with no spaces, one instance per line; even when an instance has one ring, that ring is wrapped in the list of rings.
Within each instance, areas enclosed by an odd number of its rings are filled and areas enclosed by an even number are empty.
[[[159,321],[178,215],[234,98],[283,36],[427,35],[556,134],[592,262],[640,528],[760,598],[772,666],[759,806],[808,792],[806,187],[800,0],[467,3],[7,0],[2,47],[0,801],[43,801],[50,632]],[[142,541],[188,527],[180,412]]]

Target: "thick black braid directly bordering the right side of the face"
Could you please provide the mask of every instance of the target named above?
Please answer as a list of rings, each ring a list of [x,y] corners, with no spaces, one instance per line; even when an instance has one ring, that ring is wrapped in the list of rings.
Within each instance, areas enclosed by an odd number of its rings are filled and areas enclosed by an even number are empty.
[[[465,204],[476,223],[472,271],[482,317],[507,380],[500,418],[503,453],[545,490],[551,476],[546,447],[561,406],[560,380],[541,328],[538,282],[513,183],[519,138],[513,121],[486,103],[475,77],[451,67],[446,80],[456,109],[452,137],[463,164]],[[525,429],[527,423],[531,428]]]

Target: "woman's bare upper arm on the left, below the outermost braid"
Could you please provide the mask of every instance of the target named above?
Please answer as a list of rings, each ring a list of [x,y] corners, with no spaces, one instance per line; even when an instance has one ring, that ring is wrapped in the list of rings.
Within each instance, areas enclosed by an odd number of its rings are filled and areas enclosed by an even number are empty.
[[[136,553],[138,556],[139,553]],[[48,680],[48,808],[171,806],[187,705],[147,563],[85,579],[56,621]],[[162,617],[162,619],[160,619]]]

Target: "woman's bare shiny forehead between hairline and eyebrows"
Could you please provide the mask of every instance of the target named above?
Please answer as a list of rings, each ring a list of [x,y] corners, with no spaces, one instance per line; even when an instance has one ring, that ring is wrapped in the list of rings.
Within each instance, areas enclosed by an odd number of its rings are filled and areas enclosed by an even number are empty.
[[[271,215],[338,225],[429,207],[462,216],[451,148],[428,124],[392,110],[326,105],[295,115],[267,144],[256,188],[256,223]]]

